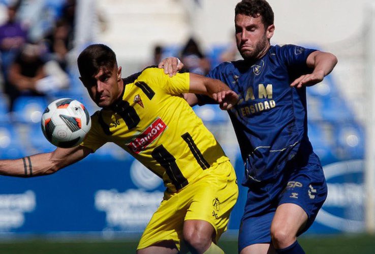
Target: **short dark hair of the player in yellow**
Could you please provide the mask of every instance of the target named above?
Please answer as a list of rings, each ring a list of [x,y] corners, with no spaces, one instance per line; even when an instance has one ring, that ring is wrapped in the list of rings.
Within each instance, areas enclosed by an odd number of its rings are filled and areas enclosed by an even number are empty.
[[[117,68],[116,54],[108,46],[93,44],[85,48],[77,59],[81,77],[93,77],[100,69],[113,70]]]

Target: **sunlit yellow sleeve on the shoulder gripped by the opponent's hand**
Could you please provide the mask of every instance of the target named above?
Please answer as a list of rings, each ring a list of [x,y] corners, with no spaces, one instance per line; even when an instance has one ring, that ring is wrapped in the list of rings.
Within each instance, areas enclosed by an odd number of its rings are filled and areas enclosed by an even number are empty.
[[[146,79],[152,79],[154,82],[150,82],[151,84],[158,84],[169,94],[180,95],[189,92],[190,89],[190,74],[187,72],[177,73],[175,76],[169,77],[163,69],[148,68],[142,72],[142,75]]]

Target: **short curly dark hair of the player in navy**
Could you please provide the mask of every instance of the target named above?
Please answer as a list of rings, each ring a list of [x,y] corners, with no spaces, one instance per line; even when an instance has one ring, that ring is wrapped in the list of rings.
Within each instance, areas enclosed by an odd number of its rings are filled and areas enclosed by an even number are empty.
[[[273,11],[265,0],[242,0],[236,5],[235,15],[243,14],[256,18],[262,18],[265,27],[273,24]]]

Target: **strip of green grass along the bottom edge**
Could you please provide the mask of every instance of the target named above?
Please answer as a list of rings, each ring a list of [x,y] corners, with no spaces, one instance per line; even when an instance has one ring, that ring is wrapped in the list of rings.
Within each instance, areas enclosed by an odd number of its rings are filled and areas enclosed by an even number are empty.
[[[370,254],[375,253],[375,236],[308,236],[299,238],[306,253]],[[223,239],[219,245],[226,253],[237,253],[237,241]],[[0,253],[6,254],[121,254],[135,253],[136,241],[55,241],[48,239],[0,242]]]

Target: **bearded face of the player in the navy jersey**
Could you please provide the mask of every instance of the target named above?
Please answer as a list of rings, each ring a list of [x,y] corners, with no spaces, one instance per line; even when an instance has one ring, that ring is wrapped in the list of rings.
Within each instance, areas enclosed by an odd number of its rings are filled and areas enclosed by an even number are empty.
[[[237,14],[235,26],[237,48],[244,59],[257,60],[267,52],[274,25],[265,28],[260,16]]]

